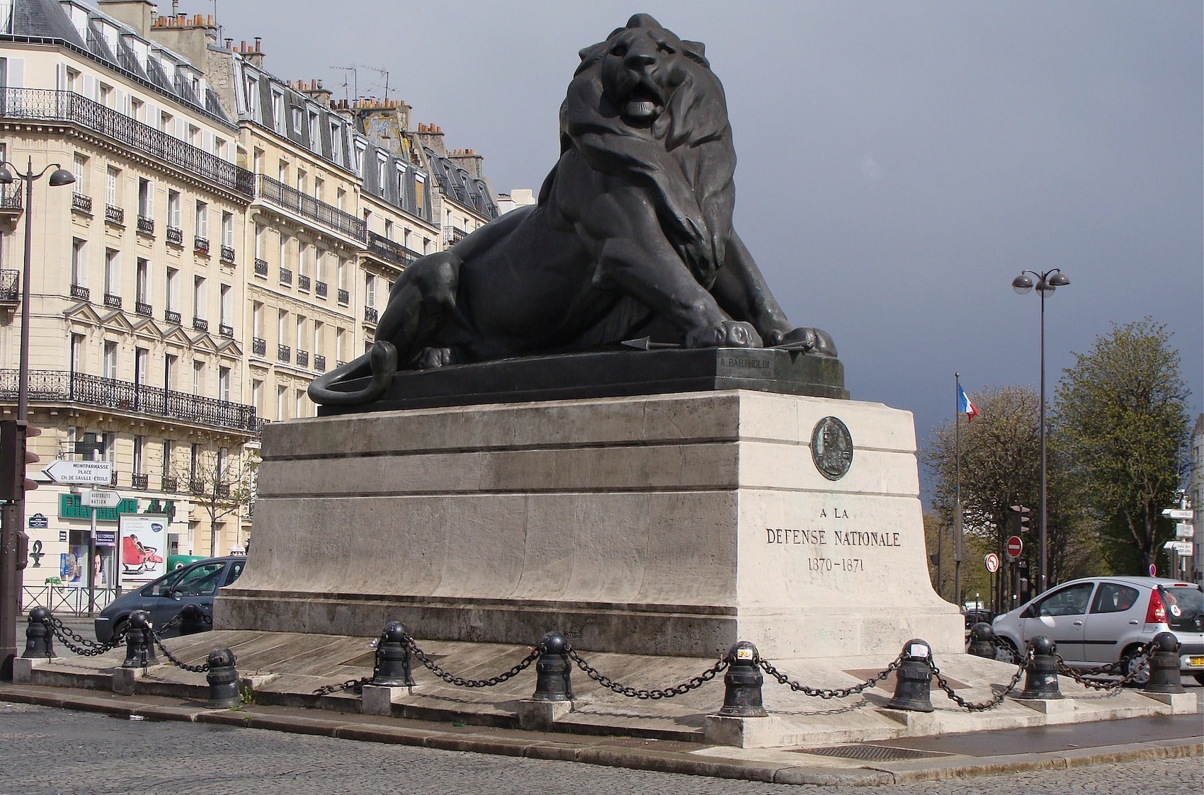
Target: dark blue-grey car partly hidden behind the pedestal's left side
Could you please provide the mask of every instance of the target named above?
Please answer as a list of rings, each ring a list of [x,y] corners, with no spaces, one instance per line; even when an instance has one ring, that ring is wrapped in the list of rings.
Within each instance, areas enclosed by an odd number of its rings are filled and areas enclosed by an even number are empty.
[[[107,643],[123,634],[135,610],[150,613],[150,625],[155,628],[178,616],[184,605],[199,605],[212,617],[213,595],[222,586],[237,580],[244,565],[247,558],[243,556],[197,560],[118,597],[96,616],[96,640]],[[166,636],[172,634],[175,629],[165,633]]]

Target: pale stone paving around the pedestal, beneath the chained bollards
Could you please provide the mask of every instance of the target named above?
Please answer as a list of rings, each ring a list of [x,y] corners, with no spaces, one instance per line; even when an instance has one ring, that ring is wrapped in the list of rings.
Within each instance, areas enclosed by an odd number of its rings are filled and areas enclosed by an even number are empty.
[[[724,699],[721,676],[672,699],[639,700],[618,695],[574,670],[572,711],[556,717],[550,724],[554,731],[538,731],[524,728],[519,718],[521,702],[535,687],[533,666],[496,687],[456,688],[414,660],[417,687],[412,693],[396,692],[390,714],[374,716],[360,712],[360,698],[352,692],[314,694],[321,686],[371,675],[368,639],[226,630],[167,639],[165,645],[188,664],[203,661],[216,647],[235,649],[238,672],[253,686],[253,702],[207,710],[205,676],[170,665],[152,666],[144,675],[138,670],[134,694],[116,695],[111,671],[120,665],[122,649],[40,661],[29,683],[0,686],[0,699],[149,719],[798,784],[886,784],[1204,754],[1204,722],[1196,693],[1178,700],[1182,714],[1168,714],[1168,705],[1138,692],[1100,694],[1066,677],[1061,689],[1068,698],[1056,707],[1049,702],[1043,711],[1007,699],[988,712],[969,714],[940,690],[932,692],[932,713],[884,710],[893,693],[892,681],[845,700],[821,700],[769,680],[763,694],[771,716],[744,719],[751,726],[745,731],[787,742],[733,747],[708,738],[707,716],[718,712]],[[419,646],[438,665],[465,678],[507,671],[527,653],[526,647],[513,646],[421,640]],[[606,676],[635,687],[685,682],[713,663],[585,657]],[[843,670],[821,660],[775,665],[784,672],[804,672],[815,686],[848,687],[868,678],[885,661],[846,660],[840,663]],[[1015,670],[978,658],[938,663],[970,700],[988,699],[995,692],[988,683],[970,687],[962,682],[980,672],[980,663],[988,664],[990,682],[1007,682]],[[862,676],[866,670],[869,674]],[[1163,714],[1153,714],[1159,711]]]

